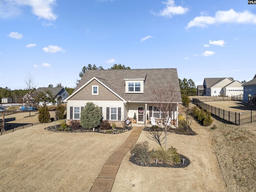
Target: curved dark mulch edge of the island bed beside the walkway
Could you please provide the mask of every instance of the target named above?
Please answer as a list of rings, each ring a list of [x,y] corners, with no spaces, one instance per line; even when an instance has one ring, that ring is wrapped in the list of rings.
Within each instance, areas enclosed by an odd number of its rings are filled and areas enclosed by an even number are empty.
[[[185,159],[184,160],[184,164],[182,162],[180,163],[174,163],[172,165],[170,164],[166,164],[166,163],[161,163],[158,162],[156,163],[144,163],[144,162],[140,162],[140,160],[138,158],[135,157],[130,157],[130,162],[132,162],[133,164],[136,164],[138,166],[143,166],[143,167],[170,167],[170,168],[185,168],[187,166],[189,166],[190,164],[190,160],[188,158],[186,158],[185,156],[178,154],[180,156],[180,159]]]

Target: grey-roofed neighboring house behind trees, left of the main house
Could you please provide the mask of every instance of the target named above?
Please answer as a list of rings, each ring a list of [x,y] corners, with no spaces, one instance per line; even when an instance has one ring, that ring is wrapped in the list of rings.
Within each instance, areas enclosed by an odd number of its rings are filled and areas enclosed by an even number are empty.
[[[45,92],[49,90],[52,92],[52,96],[55,98],[55,104],[61,104],[63,101],[69,96],[68,92],[63,87],[40,87],[35,93]],[[42,102],[39,102],[39,105],[42,105]],[[49,103],[48,105],[53,105],[53,103]]]

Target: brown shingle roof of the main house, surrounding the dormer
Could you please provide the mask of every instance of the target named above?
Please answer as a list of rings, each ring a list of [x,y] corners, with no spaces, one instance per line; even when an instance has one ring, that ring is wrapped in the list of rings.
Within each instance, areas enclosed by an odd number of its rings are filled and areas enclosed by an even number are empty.
[[[74,89],[75,93],[92,78],[97,78],[114,93],[126,101],[150,102],[152,87],[172,86],[176,96],[173,102],[181,103],[180,85],[176,68],[168,69],[130,69],[130,70],[87,70]],[[126,93],[125,79],[145,79],[143,93]]]

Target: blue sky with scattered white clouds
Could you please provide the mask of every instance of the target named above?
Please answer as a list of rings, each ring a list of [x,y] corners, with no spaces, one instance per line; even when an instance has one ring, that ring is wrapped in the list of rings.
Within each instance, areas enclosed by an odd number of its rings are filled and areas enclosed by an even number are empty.
[[[0,0],[0,87],[74,88],[88,64],[177,68],[180,79],[256,74],[246,0]],[[164,78],[164,77],[163,77]]]

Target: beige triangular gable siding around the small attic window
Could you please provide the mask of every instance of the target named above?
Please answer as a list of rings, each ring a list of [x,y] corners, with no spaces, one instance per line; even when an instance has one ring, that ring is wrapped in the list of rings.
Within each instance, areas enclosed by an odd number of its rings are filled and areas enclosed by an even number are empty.
[[[92,86],[98,85],[98,95],[92,95]],[[96,100],[96,101],[121,101],[116,95],[114,95],[110,90],[102,86],[98,81],[94,80],[82,90],[80,90],[76,95],[74,95],[70,100]]]

